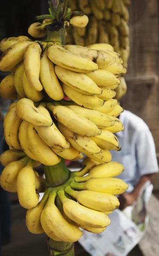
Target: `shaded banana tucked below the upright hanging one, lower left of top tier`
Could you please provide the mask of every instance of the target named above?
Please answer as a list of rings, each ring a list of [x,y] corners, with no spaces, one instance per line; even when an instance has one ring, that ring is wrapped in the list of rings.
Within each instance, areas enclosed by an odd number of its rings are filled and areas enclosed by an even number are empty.
[[[23,89],[26,93],[28,99],[32,100],[33,102],[39,102],[43,99],[44,95],[41,91],[35,90],[34,87],[30,84],[29,80],[26,77],[25,70],[23,70]]]

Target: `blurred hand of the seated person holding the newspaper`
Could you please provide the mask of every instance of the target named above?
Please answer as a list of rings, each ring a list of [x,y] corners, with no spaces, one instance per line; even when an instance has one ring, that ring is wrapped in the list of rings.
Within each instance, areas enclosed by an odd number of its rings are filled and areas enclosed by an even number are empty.
[[[119,209],[124,210],[127,206],[134,204],[135,201],[136,201],[136,196],[133,194],[133,192],[124,193],[119,196],[119,202],[120,202]]]

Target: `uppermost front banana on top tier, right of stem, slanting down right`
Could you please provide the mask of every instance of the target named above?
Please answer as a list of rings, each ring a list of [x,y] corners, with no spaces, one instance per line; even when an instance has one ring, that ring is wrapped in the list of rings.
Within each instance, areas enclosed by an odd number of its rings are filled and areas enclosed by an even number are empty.
[[[57,44],[51,45],[47,53],[53,63],[68,70],[78,73],[88,73],[93,70],[98,70],[98,64],[88,58],[73,54]]]

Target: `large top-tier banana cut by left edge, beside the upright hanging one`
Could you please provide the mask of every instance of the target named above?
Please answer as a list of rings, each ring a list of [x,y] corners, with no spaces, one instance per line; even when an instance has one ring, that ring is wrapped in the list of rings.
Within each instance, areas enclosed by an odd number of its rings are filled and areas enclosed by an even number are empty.
[[[5,52],[3,52],[0,57],[0,70],[12,70],[12,68],[23,60],[25,49],[30,43],[30,41],[23,40],[13,44]]]

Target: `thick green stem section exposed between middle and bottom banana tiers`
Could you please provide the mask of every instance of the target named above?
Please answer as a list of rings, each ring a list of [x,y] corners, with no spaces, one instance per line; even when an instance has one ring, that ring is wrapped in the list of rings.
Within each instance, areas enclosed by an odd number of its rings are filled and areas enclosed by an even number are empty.
[[[64,184],[70,175],[69,169],[65,165],[65,160],[61,158],[61,162],[54,166],[43,165],[45,174],[45,186],[55,187]]]

